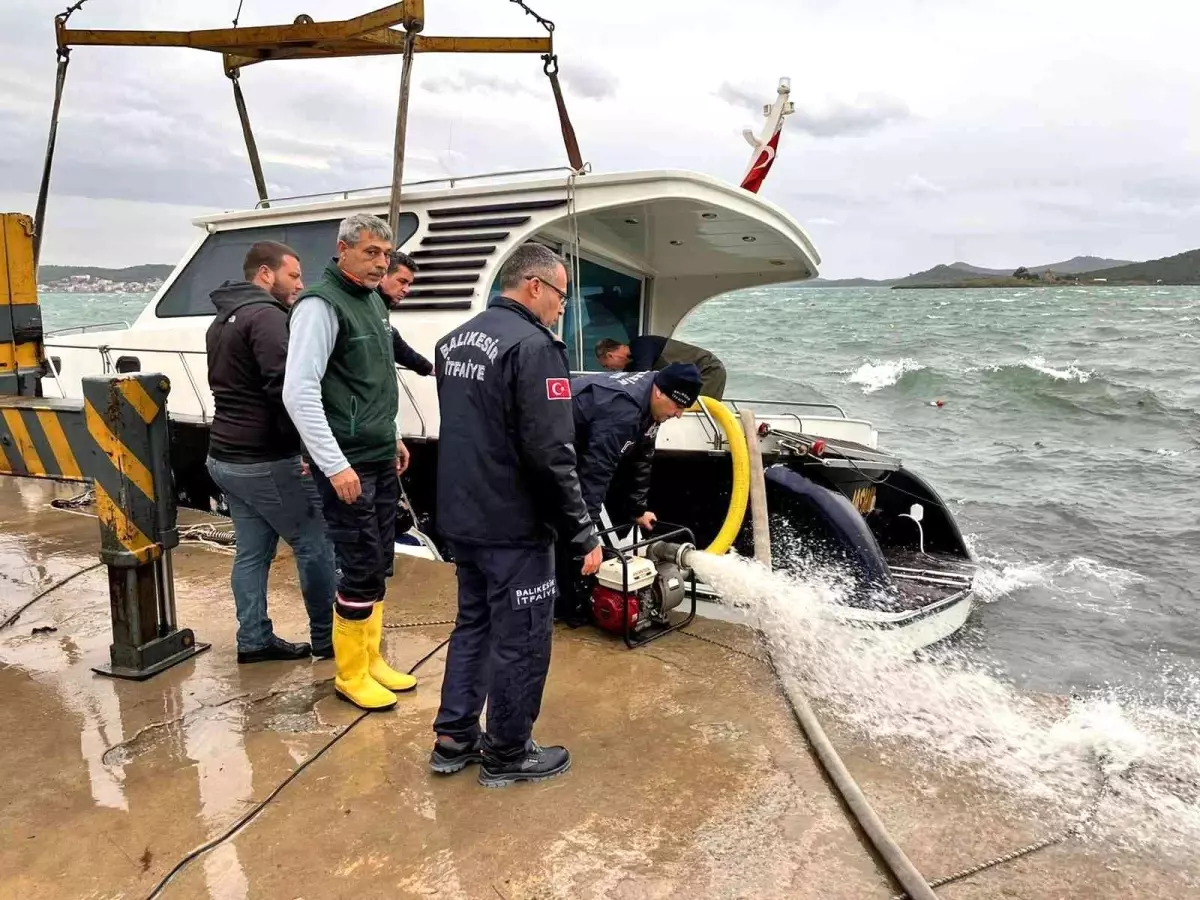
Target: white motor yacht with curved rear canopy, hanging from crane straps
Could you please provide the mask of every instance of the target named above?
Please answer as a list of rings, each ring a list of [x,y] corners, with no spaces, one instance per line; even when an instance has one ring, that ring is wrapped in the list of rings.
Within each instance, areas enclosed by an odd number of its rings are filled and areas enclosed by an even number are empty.
[[[164,373],[173,385],[180,500],[210,508],[218,496],[203,466],[212,416],[204,354],[214,314],[209,292],[238,276],[246,248],[258,240],[294,247],[312,277],[331,256],[344,216],[382,215],[386,206],[380,188],[272,198],[269,208],[196,220],[196,242],[132,326],[47,337],[53,372],[46,396],[80,397],[85,376]],[[576,371],[596,368],[592,348],[601,337],[671,335],[714,296],[804,281],[820,263],[804,229],[782,209],[688,172],[450,179],[407,186],[402,209],[398,244],[420,271],[391,320],[427,356],[442,335],[485,307],[499,266],[530,240],[563,253],[575,275],[578,301],[560,328]],[[400,430],[413,452],[408,493],[422,530],[432,534],[436,385],[409,371],[397,370],[397,378]],[[882,589],[895,598],[890,608],[876,600],[847,606],[847,619],[904,628],[920,635],[920,646],[961,626],[971,608],[970,551],[932,488],[878,450],[869,421],[833,404],[727,403],[754,408],[767,431],[761,446],[776,521],[803,532],[810,546],[820,532],[816,542],[862,574],[864,596]],[[690,527],[703,547],[728,503],[726,436],[707,413],[689,413],[662,426],[658,449],[653,508],[665,521]],[[911,518],[914,502],[922,523]]]

